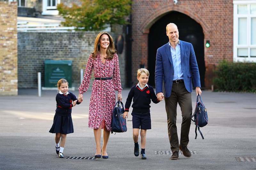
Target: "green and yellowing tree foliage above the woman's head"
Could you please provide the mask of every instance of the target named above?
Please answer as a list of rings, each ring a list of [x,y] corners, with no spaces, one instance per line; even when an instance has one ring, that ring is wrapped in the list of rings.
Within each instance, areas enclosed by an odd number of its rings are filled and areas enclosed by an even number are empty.
[[[132,0],[81,0],[82,5],[73,3],[67,7],[58,4],[57,10],[63,16],[64,26],[75,26],[83,31],[97,31],[106,28],[106,24],[129,24],[125,16],[131,12]]]

